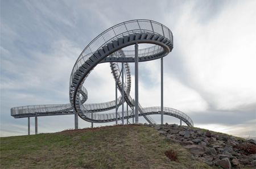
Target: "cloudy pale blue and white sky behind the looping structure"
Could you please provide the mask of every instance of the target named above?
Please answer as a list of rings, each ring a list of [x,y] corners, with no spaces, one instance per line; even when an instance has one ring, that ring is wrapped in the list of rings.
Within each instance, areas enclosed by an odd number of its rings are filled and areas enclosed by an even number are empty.
[[[163,59],[164,107],[186,113],[195,127],[256,137],[256,1],[1,0],[0,7],[1,137],[27,134],[27,118],[14,119],[12,107],[69,103],[69,78],[82,50],[133,19],[162,23],[174,35]],[[109,63],[97,65],[84,87],[86,103],[114,100]],[[160,60],[139,63],[139,103],[160,106]],[[151,117],[160,124],[160,116]],[[38,117],[38,133],[73,129],[74,121],[74,115]],[[34,134],[34,117],[30,122]],[[164,116],[165,122],[180,120]],[[90,125],[79,119],[79,128]]]

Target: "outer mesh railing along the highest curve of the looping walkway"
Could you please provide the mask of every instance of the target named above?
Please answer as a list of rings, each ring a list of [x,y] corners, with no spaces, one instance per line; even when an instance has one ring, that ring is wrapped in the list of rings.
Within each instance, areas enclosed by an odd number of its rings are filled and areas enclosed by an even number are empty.
[[[156,35],[166,37],[167,39],[171,40],[171,42],[173,41],[171,30],[163,24],[154,22],[152,20],[130,20],[128,22],[117,24],[102,32],[93,41],[91,41],[87,47],[85,47],[79,58],[77,58],[75,66],[73,67],[70,84],[72,83],[73,75],[76,73],[79,67],[82,66],[82,64],[84,64],[84,62],[88,60],[90,56],[92,56],[92,53],[101,49],[113,40],[117,40],[120,37],[128,36],[134,33],[154,33]],[[156,52],[159,52],[159,49],[156,50]]]

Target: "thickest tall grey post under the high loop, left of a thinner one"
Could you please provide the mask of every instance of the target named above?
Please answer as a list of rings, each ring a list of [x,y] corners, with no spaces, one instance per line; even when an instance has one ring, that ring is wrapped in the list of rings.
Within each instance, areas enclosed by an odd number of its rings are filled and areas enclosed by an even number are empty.
[[[139,103],[139,78],[138,78],[138,43],[135,44],[135,123],[139,123],[138,103]]]

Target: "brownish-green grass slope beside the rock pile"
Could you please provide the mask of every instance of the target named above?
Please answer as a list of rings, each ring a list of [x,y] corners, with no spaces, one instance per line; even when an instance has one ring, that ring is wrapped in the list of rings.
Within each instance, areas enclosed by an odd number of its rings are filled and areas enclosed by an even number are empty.
[[[164,155],[176,150],[177,161]],[[0,168],[209,168],[154,128],[116,125],[1,138]]]

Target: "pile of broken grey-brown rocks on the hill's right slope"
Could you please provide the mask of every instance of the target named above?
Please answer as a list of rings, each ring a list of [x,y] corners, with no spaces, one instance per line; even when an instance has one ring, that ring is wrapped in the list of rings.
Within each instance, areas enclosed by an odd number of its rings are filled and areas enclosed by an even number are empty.
[[[241,140],[223,133],[205,131],[177,124],[144,124],[154,127],[166,140],[180,143],[209,166],[222,168],[256,167],[256,141]]]

